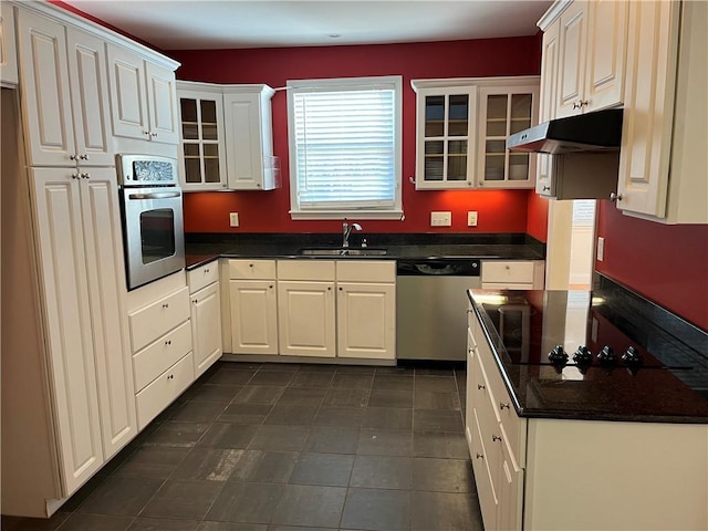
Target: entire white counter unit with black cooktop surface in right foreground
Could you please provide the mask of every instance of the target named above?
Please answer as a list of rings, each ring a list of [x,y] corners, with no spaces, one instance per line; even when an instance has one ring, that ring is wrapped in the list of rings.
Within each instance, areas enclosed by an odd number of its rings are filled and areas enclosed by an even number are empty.
[[[602,284],[468,292],[466,435],[488,530],[708,525],[705,333],[678,340]]]

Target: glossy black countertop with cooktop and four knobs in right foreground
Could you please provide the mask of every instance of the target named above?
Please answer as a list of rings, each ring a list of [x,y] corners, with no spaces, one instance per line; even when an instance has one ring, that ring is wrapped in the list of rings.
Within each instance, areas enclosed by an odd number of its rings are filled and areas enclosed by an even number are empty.
[[[684,322],[693,330],[680,332],[679,339],[636,308],[627,314],[626,296],[616,288],[468,292],[517,413],[531,418],[708,424],[708,334]],[[499,315],[527,304],[529,345],[522,350],[517,342],[521,334],[500,337]],[[581,342],[593,353],[585,371],[572,360]],[[554,344],[563,344],[570,356],[558,369],[548,361]],[[594,356],[605,344],[618,358],[629,345],[637,347],[643,365],[635,374],[621,360],[614,368],[602,366]]]

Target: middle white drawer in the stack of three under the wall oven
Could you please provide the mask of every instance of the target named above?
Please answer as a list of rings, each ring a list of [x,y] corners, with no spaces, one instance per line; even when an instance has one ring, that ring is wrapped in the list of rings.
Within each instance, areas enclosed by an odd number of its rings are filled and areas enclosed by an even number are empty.
[[[140,391],[191,351],[191,324],[185,321],[133,356],[135,389]]]

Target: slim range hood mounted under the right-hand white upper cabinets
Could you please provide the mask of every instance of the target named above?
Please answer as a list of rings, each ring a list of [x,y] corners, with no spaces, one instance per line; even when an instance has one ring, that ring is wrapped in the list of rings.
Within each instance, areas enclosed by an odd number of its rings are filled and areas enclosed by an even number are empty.
[[[507,138],[512,152],[570,154],[620,149],[622,108],[552,119]]]

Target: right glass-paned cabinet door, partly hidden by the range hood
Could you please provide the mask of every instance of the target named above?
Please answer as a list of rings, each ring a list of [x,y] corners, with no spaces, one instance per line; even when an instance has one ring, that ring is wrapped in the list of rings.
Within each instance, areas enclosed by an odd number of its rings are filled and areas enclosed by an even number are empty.
[[[538,124],[539,87],[480,87],[477,185],[533,188],[535,155],[509,152],[507,137]]]

